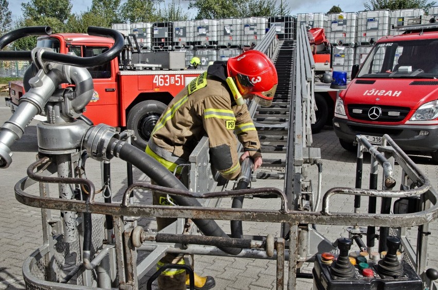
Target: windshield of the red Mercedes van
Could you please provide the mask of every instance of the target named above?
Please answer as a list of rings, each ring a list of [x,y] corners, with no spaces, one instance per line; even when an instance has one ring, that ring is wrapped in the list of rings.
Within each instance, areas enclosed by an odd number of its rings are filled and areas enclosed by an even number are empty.
[[[438,41],[378,43],[360,68],[358,78],[438,78]]]

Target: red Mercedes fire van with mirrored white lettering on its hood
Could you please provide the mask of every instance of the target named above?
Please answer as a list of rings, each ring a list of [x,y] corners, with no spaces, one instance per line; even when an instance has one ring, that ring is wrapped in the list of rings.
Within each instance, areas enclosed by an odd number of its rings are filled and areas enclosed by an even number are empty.
[[[438,162],[438,25],[405,29],[380,38],[340,93],[334,130],[346,150],[356,150],[356,134],[373,144],[389,134],[401,149]]]

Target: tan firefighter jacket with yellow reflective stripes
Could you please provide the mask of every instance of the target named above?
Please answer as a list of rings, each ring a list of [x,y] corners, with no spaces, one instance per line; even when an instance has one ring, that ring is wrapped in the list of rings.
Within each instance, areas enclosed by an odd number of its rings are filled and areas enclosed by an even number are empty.
[[[246,104],[236,106],[225,81],[202,73],[170,102],[155,126],[146,152],[175,170],[207,134],[211,163],[226,179],[239,176],[237,138],[250,157],[261,157],[260,142]],[[178,168],[178,167],[177,167]]]

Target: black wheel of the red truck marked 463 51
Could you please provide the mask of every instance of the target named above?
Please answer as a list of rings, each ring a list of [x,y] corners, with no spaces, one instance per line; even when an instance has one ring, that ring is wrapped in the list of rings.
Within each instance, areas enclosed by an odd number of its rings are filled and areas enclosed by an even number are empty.
[[[132,144],[144,150],[151,137],[152,130],[167,106],[158,101],[143,101],[131,108],[127,115],[126,128],[134,130]]]

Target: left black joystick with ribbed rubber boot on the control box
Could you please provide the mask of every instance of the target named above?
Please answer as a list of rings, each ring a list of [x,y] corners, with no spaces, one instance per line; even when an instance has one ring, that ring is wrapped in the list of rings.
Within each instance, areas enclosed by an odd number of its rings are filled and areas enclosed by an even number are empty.
[[[332,263],[330,273],[338,278],[353,278],[355,276],[355,267],[350,262],[348,252],[352,245],[352,241],[347,238],[338,239],[339,257]]]

